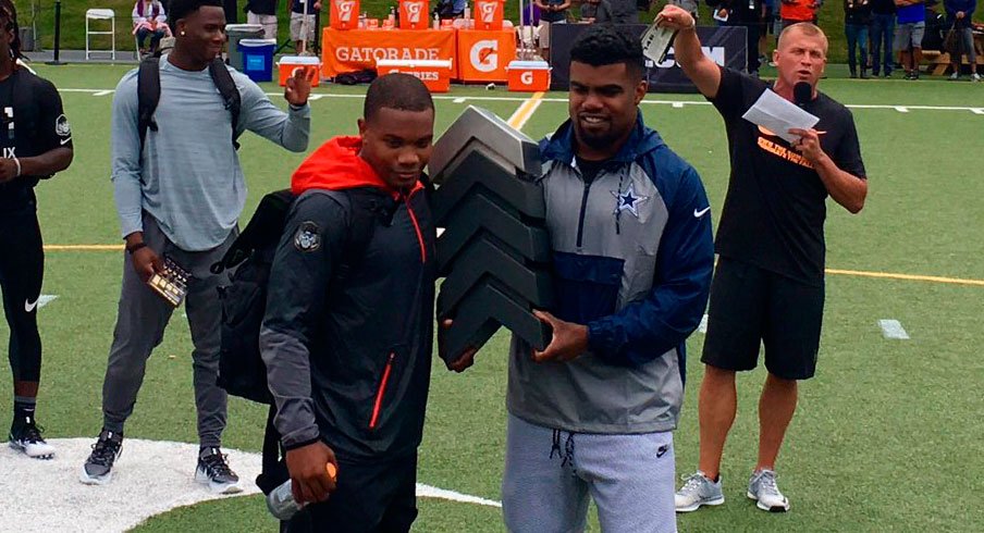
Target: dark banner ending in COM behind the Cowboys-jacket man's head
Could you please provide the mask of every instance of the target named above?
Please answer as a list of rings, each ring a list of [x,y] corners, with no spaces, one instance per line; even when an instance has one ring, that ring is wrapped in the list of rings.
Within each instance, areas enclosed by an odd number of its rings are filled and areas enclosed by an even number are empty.
[[[640,36],[649,27],[644,24],[616,24],[615,26],[625,32],[636,32]],[[587,28],[588,25],[585,24],[550,25],[550,63],[553,66],[551,90],[567,90],[570,84],[570,48],[577,36]],[[748,64],[746,32],[747,29],[740,26],[697,27],[697,35],[700,37],[704,54],[722,66],[739,71]],[[650,92],[697,92],[697,87],[676,64],[672,47],[669,53],[666,54],[666,61],[655,64],[647,59],[645,66],[649,71]]]

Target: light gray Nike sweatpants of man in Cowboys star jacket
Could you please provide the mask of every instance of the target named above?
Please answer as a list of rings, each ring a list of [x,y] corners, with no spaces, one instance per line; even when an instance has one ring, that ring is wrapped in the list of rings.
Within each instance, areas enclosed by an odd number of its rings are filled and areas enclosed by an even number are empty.
[[[502,510],[515,533],[676,533],[673,433],[569,433],[509,414]]]

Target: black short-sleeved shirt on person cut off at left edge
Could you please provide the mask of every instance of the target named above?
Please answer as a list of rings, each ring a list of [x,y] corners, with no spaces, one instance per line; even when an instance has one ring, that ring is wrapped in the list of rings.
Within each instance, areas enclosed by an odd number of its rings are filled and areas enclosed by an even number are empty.
[[[72,148],[72,129],[58,89],[20,67],[0,82],[0,157],[30,158],[56,148]],[[34,202],[38,179],[21,176],[0,184],[0,212]]]

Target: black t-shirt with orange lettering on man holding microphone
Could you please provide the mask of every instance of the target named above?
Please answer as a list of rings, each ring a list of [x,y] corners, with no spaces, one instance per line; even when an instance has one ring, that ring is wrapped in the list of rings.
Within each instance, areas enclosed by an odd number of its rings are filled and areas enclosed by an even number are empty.
[[[715,248],[738,259],[804,283],[823,282],[827,189],[812,164],[792,147],[741,117],[768,86],[722,69],[711,102],[724,117],[731,175],[721,213]],[[837,166],[865,177],[851,112],[823,94],[803,109],[827,132],[821,147]]]

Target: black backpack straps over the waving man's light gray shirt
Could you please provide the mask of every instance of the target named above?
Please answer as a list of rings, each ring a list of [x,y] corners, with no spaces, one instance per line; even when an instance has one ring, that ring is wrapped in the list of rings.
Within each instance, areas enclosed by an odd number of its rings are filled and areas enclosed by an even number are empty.
[[[221,58],[216,58],[208,65],[208,73],[212,77],[212,83],[222,95],[225,102],[225,109],[232,115],[232,146],[239,149],[239,111],[243,109],[243,100],[239,97],[239,90],[236,83],[232,79],[232,74],[225,67],[225,63]],[[140,133],[140,154],[144,153],[144,140],[147,138],[147,131],[157,132],[157,122],[153,120],[153,112],[161,99],[161,72],[160,57],[149,55],[140,61],[140,67],[137,73],[137,129]]]

